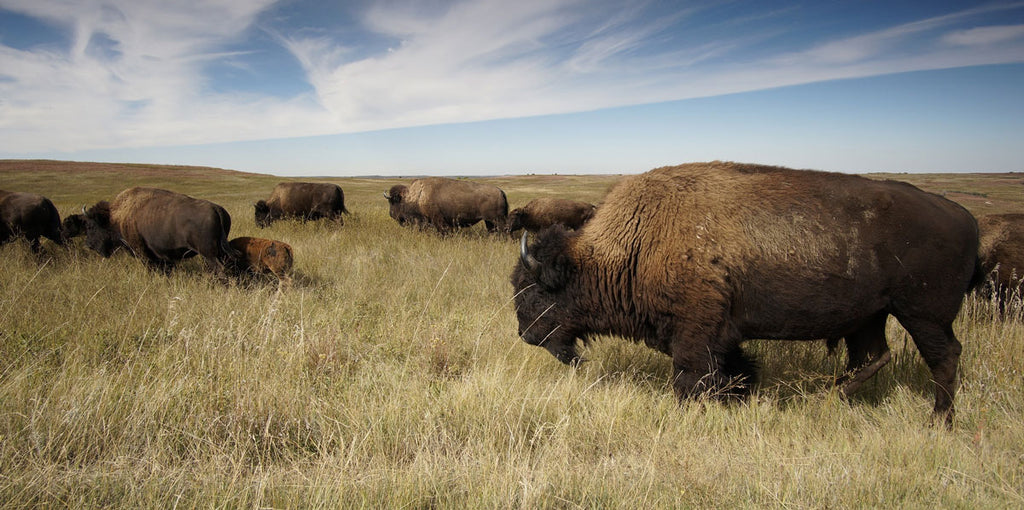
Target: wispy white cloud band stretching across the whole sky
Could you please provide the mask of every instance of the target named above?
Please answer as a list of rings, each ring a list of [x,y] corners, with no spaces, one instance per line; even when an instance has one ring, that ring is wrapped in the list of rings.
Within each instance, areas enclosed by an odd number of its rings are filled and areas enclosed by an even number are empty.
[[[745,57],[750,34],[667,44],[699,8],[651,16],[615,0],[373,2],[379,51],[304,27],[266,29],[313,92],[212,92],[272,0],[0,0],[65,48],[0,40],[0,152],[173,145],[597,110],[821,80],[1024,61],[1024,27],[967,25],[991,4],[797,51]],[[287,8],[287,5],[285,6]],[[316,34],[311,36],[309,34]],[[219,90],[219,89],[218,89]]]

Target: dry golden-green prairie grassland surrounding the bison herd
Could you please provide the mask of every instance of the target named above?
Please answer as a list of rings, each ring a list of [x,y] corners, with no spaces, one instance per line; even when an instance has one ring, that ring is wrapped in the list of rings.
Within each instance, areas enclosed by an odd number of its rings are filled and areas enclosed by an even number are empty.
[[[961,177],[961,193],[989,185]],[[62,215],[134,184],[212,200],[232,237],[291,244],[297,270],[278,292],[198,261],[163,277],[81,244],[0,247],[0,505],[1024,506],[1024,325],[990,303],[969,299],[955,325],[953,430],[929,426],[929,373],[896,324],[894,363],[852,401],[822,342],[752,341],[751,399],[679,405],[646,347],[600,339],[571,369],[520,341],[513,240],[399,227],[381,193],[401,179],[316,179],[345,189],[344,226],[258,229],[251,204],[279,180],[0,162],[0,188]],[[488,180],[515,207],[598,202],[615,177]]]

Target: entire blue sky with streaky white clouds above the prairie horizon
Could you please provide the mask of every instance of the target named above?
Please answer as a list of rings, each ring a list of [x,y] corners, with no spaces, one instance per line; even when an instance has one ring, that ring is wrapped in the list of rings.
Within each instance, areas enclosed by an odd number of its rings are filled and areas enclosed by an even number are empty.
[[[1024,171],[1024,2],[0,0],[0,158]]]

